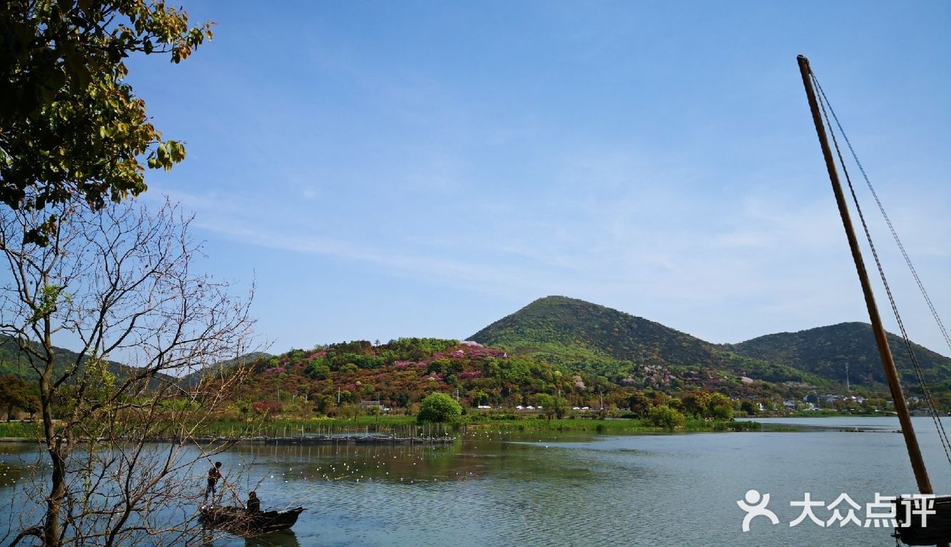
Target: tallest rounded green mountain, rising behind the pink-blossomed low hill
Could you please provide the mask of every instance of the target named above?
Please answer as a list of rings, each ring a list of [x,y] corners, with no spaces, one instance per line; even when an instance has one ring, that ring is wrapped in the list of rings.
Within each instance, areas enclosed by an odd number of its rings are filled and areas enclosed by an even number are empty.
[[[723,389],[729,386],[720,383],[728,377],[738,382],[738,376],[826,383],[785,363],[740,356],[657,322],[558,296],[530,303],[472,340],[613,385]]]

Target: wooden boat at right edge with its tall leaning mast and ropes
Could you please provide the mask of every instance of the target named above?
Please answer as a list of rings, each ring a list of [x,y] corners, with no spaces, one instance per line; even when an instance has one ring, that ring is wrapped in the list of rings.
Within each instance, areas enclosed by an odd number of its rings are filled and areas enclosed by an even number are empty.
[[[812,73],[812,69],[809,67],[808,59],[806,59],[804,55],[800,55],[797,60],[799,63],[800,73],[803,76],[803,86],[805,87],[805,95],[809,102],[809,109],[812,112],[812,121],[815,124],[816,133],[819,137],[819,145],[823,150],[825,168],[828,171],[829,182],[832,183],[832,192],[835,194],[836,205],[838,205],[839,214],[842,217],[845,237],[848,240],[848,245],[852,252],[852,260],[855,263],[856,272],[859,274],[859,281],[862,283],[865,307],[868,309],[868,317],[872,323],[872,331],[875,333],[875,342],[878,345],[879,357],[882,359],[885,378],[888,380],[888,387],[891,391],[892,400],[895,403],[895,412],[898,414],[899,421],[902,424],[902,435],[904,437],[905,448],[908,451],[908,458],[911,460],[911,468],[915,474],[915,480],[918,483],[919,492],[921,492],[922,495],[930,498],[915,500],[897,497],[893,504],[895,509],[893,516],[896,518],[898,526],[895,527],[895,533],[892,536],[902,540],[908,545],[938,545],[939,547],[951,547],[951,496],[934,496],[935,491],[931,486],[931,480],[928,478],[928,473],[924,468],[922,451],[918,445],[918,439],[915,437],[915,428],[912,425],[911,415],[908,412],[908,407],[904,398],[904,392],[902,391],[902,383],[899,379],[898,370],[895,367],[895,360],[892,356],[891,348],[888,346],[888,341],[882,324],[882,318],[879,315],[878,305],[875,303],[875,295],[872,292],[871,283],[868,281],[868,273],[865,270],[862,252],[859,248],[858,239],[855,236],[855,229],[852,226],[852,220],[848,210],[849,207],[845,202],[845,194],[843,191],[843,186],[839,180],[839,172],[835,157],[832,154],[832,147],[829,146],[829,139],[825,132],[826,124],[828,127],[832,127],[832,123],[829,120],[828,113],[826,112],[827,104],[825,102],[825,95],[822,95],[821,99],[816,95],[815,88],[819,87],[818,81],[816,80],[815,75]],[[820,92],[822,92],[822,88],[819,89]],[[828,109],[831,110],[831,107]],[[834,112],[832,112],[832,116],[833,118],[835,117]],[[836,122],[838,125],[838,120],[836,120]],[[842,150],[839,148],[839,143],[835,140],[834,132],[832,137],[832,142],[836,147],[837,155],[840,158],[840,161],[842,161]],[[845,180],[848,182],[849,188],[851,189],[852,183],[849,180],[848,171],[845,168],[843,168],[843,170]],[[855,199],[854,192],[852,193],[852,196],[853,199]],[[858,209],[861,216],[862,211],[859,209],[857,201],[856,208]],[[895,235],[894,231],[892,234]],[[869,244],[871,244],[871,236],[868,234],[867,228],[865,229],[865,235],[866,238],[869,238]],[[902,248],[902,252],[903,251],[904,249]],[[905,259],[907,261],[907,256]],[[877,257],[876,262],[878,262]],[[911,267],[910,262],[908,262],[908,265]],[[914,273],[914,268],[911,269]],[[880,264],[879,272],[882,276],[882,281],[887,288],[887,283],[885,282],[884,273]],[[915,274],[915,277],[917,280],[917,274]],[[930,305],[930,300],[927,299],[927,295],[924,293],[920,281],[919,286],[922,288],[922,294],[925,296],[925,300]],[[896,313],[896,319],[899,320],[899,325],[902,327],[902,336],[905,338],[905,342],[908,342],[906,333],[904,332],[904,327],[901,323],[901,319],[898,317],[898,309],[895,307],[895,303],[891,299],[890,292],[888,297],[890,303],[892,304],[892,308]],[[938,316],[937,313],[934,312],[934,308],[932,308],[932,313],[935,314],[935,319],[938,320]],[[940,320],[938,322],[940,324]],[[907,344],[907,347],[910,352],[910,343]],[[913,354],[911,354],[910,357],[912,358],[912,361],[915,361]],[[939,413],[931,404],[930,396],[927,395],[927,390],[924,390],[924,393],[928,399],[928,405],[931,407],[931,413],[934,415],[935,422],[939,427],[939,433],[942,435],[942,439],[946,440],[946,434],[944,433],[943,426],[941,426],[941,422],[938,418]],[[915,504],[916,501],[917,505]],[[926,516],[922,516],[922,514]]]

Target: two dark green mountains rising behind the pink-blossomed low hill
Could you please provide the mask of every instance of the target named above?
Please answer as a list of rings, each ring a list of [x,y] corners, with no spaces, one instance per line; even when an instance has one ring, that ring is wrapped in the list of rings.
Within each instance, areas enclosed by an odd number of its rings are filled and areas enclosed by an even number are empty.
[[[605,376],[621,372],[618,361],[625,361],[629,364],[621,369],[666,367],[683,373],[708,368],[754,380],[825,386],[844,383],[848,362],[852,385],[882,388],[884,383],[871,326],[862,322],[714,344],[603,305],[550,296],[493,322],[471,340]],[[910,371],[902,339],[889,334],[889,342],[900,368]],[[945,387],[951,387],[951,359],[913,347],[925,379],[949,379]],[[902,378],[915,380],[910,372]]]

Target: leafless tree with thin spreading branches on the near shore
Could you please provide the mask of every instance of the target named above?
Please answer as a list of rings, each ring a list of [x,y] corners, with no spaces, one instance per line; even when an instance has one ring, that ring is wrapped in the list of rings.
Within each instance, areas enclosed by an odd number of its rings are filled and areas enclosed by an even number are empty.
[[[43,215],[0,212],[9,266],[0,335],[34,372],[48,459],[21,485],[37,502],[19,523],[10,516],[10,545],[26,537],[50,547],[175,543],[198,525],[196,470],[229,446],[193,440],[226,408],[243,368],[182,379],[255,349],[253,294],[236,298],[229,283],[197,272],[201,244],[176,205],[72,204],[56,214],[56,233],[37,246],[23,234]],[[75,359],[57,360],[54,335],[79,341]]]

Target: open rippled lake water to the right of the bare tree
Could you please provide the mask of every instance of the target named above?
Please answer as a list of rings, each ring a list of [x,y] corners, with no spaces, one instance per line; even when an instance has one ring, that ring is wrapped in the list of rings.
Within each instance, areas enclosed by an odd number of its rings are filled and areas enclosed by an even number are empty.
[[[851,522],[820,527],[806,518],[790,527],[802,509],[789,503],[806,492],[826,504],[846,494],[864,520],[876,493],[915,492],[898,420],[782,422],[825,429],[624,437],[470,430],[443,447],[243,445],[217,458],[241,475],[242,495],[255,488],[265,507],[307,510],[293,532],[214,545],[894,545],[890,530]],[[936,490],[951,493],[933,423],[915,425]],[[742,531],[737,500],[750,489],[769,494],[779,524],[757,517]],[[0,489],[10,496],[10,486]],[[849,508],[840,509],[846,516]]]

